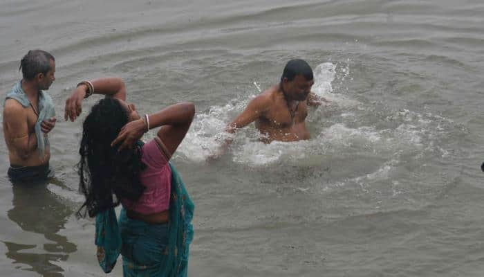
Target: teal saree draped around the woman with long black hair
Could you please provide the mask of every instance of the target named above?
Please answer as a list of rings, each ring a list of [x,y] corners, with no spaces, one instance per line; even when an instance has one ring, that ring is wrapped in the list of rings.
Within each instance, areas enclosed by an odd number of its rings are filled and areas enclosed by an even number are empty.
[[[189,244],[193,239],[194,204],[180,175],[171,168],[169,222],[149,224],[131,220],[114,208],[96,215],[97,260],[105,273],[123,257],[123,276],[187,276]]]

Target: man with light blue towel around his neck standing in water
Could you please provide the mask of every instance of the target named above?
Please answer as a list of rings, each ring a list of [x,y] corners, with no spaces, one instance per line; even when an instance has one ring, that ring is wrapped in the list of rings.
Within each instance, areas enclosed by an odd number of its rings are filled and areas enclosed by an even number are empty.
[[[22,58],[23,78],[6,94],[3,104],[3,136],[13,182],[45,179],[49,173],[48,132],[55,126],[52,99],[42,90],[55,80],[55,59],[42,50]]]

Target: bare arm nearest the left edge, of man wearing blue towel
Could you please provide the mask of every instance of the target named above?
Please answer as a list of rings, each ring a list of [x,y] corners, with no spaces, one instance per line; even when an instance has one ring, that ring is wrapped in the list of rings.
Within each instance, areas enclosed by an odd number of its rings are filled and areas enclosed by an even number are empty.
[[[10,147],[14,148],[20,159],[28,159],[30,154],[37,149],[37,136],[35,136],[35,132],[28,134],[24,107],[17,100],[8,99],[3,109],[3,120],[7,125],[6,139],[10,142]]]

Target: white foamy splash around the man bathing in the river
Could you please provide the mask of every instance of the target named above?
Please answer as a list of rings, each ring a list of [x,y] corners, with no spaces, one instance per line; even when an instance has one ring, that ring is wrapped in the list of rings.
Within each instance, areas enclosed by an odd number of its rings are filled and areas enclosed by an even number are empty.
[[[431,114],[418,114],[415,111],[402,109],[398,111],[382,110],[374,105],[362,105],[359,101],[351,98],[351,94],[334,91],[333,81],[349,77],[350,70],[347,64],[333,64],[325,62],[319,64],[315,70],[315,84],[313,93],[331,100],[328,106],[320,107],[310,113],[307,123],[312,128],[312,137],[309,141],[297,141],[283,143],[274,141],[270,144],[261,143],[260,134],[253,126],[239,130],[233,139],[230,150],[225,152],[230,155],[234,163],[247,166],[268,166],[274,163],[310,164],[322,163],[328,154],[348,153],[363,151],[376,153],[381,157],[392,160],[395,152],[434,152],[432,139],[436,137],[435,126],[442,126],[444,118]],[[349,80],[350,78],[346,78]],[[192,123],[192,129],[186,139],[178,148],[178,157],[188,161],[203,162],[216,152],[228,134],[224,129],[228,123],[248,105],[260,91],[261,87],[253,82],[254,91],[248,91],[227,102],[225,105],[214,105],[206,112],[197,114]],[[335,115],[324,114],[322,111],[335,110]],[[386,116],[378,117],[378,120],[391,122],[389,126],[377,127],[368,118],[369,114],[375,116],[375,111]],[[331,122],[326,127],[322,123]],[[368,125],[371,124],[371,125]],[[375,125],[373,125],[375,124]],[[441,153],[445,150],[436,149]],[[392,166],[382,165],[384,171],[391,170]]]

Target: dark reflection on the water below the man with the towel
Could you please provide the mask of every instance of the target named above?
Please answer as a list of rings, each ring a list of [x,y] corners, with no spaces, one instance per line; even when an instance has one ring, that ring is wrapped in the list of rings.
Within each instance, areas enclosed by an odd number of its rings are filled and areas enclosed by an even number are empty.
[[[49,181],[56,182],[55,179]],[[46,185],[45,182],[12,185],[13,208],[8,211],[8,218],[24,232],[44,235],[46,241],[37,244],[22,244],[21,240],[4,242],[8,248],[6,256],[15,260],[15,263],[29,265],[30,268],[24,269],[36,271],[42,276],[63,276],[63,269],[55,262],[66,261],[69,253],[77,248],[57,232],[64,229],[67,217],[73,211]]]

